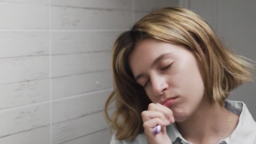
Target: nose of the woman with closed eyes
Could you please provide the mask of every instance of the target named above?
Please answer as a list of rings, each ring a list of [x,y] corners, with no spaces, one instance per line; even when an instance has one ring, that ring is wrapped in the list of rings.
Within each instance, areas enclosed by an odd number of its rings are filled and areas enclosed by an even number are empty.
[[[160,96],[164,91],[168,90],[169,85],[164,76],[154,75],[151,77],[152,91],[155,96]]]

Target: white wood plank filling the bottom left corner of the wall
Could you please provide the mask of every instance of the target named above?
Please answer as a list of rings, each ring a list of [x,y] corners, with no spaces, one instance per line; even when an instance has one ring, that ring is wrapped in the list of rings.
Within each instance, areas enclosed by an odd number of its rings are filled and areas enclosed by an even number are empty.
[[[50,144],[49,125],[0,138],[0,144]]]

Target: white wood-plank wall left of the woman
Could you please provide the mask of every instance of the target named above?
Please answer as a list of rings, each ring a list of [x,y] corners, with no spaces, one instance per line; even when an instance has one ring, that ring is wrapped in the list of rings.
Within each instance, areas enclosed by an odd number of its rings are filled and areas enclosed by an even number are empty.
[[[0,144],[108,144],[113,42],[170,5],[178,0],[1,0]]]

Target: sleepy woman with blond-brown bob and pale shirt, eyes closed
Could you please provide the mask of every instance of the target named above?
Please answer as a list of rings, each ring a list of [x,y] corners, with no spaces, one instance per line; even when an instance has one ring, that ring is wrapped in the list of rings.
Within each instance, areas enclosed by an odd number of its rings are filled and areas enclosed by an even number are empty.
[[[140,19],[117,38],[112,53],[115,90],[105,106],[115,129],[110,143],[256,144],[246,105],[226,100],[253,80],[246,60],[187,9],[163,8]]]

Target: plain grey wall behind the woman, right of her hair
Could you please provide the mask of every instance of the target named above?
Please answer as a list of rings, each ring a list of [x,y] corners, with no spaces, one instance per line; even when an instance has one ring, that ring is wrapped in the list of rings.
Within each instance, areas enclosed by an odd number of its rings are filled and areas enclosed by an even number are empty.
[[[235,53],[256,61],[255,0],[180,0],[180,6],[208,21]],[[245,83],[229,96],[243,101],[256,120],[256,83]]]

